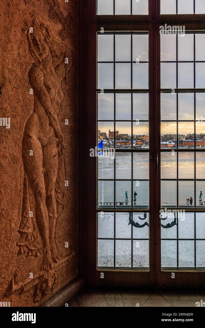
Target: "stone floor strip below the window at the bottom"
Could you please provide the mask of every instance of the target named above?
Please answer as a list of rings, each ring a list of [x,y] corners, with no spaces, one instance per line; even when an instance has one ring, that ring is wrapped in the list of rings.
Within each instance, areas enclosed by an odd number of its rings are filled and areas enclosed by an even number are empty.
[[[196,302],[205,301],[205,292],[150,290],[85,289],[74,298],[69,307],[195,307]]]

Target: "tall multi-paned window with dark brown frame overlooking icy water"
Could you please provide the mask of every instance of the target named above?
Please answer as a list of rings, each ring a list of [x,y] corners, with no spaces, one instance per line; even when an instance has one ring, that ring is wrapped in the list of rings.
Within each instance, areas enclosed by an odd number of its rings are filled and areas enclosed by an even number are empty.
[[[133,9],[139,4],[145,11]],[[98,152],[88,161],[88,271],[95,285],[106,271],[107,285],[126,277],[130,286],[193,286],[205,271],[203,3],[95,5],[86,140]]]

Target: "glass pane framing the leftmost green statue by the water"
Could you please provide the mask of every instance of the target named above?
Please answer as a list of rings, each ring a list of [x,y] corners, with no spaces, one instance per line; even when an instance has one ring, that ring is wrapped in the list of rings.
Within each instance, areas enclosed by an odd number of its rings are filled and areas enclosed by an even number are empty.
[[[131,207],[131,181],[116,181],[115,205],[117,208]]]

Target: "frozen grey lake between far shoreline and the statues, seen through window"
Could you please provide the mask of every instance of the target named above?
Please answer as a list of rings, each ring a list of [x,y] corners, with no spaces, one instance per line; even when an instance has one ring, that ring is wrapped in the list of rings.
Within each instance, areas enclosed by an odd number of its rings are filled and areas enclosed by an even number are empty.
[[[125,191],[128,200],[133,200],[131,195],[131,154],[116,153],[116,202],[125,201]],[[194,153],[183,152],[179,154],[179,179],[194,179]],[[136,205],[148,206],[149,202],[149,154],[133,153],[133,193],[136,191]],[[98,202],[114,202],[114,160],[110,157],[98,158],[98,178],[110,179],[109,181],[99,181]],[[171,152],[162,153],[161,178],[166,181],[161,182],[161,203],[162,205],[177,205],[177,182],[170,180],[177,178],[177,154],[172,156]],[[205,154],[196,154],[196,179],[205,179]],[[144,180],[144,181],[141,181]],[[187,206],[186,199],[194,199],[194,181],[179,181],[179,206]],[[200,191],[205,196],[205,181],[196,181],[196,205],[199,205]],[[205,198],[202,200],[205,200]]]

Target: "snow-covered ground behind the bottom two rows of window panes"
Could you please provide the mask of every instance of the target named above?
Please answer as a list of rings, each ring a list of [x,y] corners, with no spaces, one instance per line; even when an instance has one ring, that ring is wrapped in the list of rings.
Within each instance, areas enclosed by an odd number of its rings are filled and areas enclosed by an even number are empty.
[[[149,223],[149,214],[145,220],[142,213],[134,213],[133,221],[140,225]],[[171,223],[174,219],[161,220],[163,225]],[[115,234],[116,238],[131,239],[131,224],[129,213],[116,213]],[[177,226],[161,228],[162,238],[177,238]],[[194,213],[186,213],[185,219],[178,219],[179,239],[194,239]],[[114,238],[114,214],[104,213],[98,215],[98,238]],[[149,266],[149,228],[133,226],[133,267],[148,268]],[[205,213],[196,213],[196,239],[205,238]],[[116,240],[115,266],[131,267],[131,240]],[[140,240],[147,239],[147,240]],[[194,267],[194,240],[179,240],[179,267]],[[205,241],[196,240],[196,267],[205,267]],[[114,266],[114,239],[98,239],[98,266]],[[177,266],[177,241],[162,240],[162,267]]]

